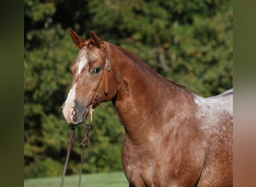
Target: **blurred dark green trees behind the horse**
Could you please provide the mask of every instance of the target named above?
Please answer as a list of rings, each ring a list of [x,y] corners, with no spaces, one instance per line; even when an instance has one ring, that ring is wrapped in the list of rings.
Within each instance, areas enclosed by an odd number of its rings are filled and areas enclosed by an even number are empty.
[[[233,7],[227,0],[24,0],[24,175],[62,173],[70,128],[61,105],[78,49],[70,28],[93,30],[201,96],[232,88]],[[76,130],[67,174],[79,173],[84,129]],[[112,103],[94,112],[84,173],[121,171],[124,128]]]

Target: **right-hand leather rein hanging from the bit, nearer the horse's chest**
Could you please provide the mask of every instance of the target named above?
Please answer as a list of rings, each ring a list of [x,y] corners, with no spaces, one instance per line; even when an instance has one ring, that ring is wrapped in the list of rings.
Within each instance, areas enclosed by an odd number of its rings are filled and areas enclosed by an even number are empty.
[[[86,125],[86,123],[85,123],[85,137],[84,137],[83,141],[79,144],[79,145],[83,145],[81,162],[80,162],[80,171],[79,171],[79,187],[80,187],[80,184],[81,184],[82,164],[83,164],[83,161],[84,161],[86,145],[88,145],[88,149],[90,149],[89,132],[90,132],[90,126],[92,125],[92,114],[93,114],[93,112],[94,112],[94,109],[92,108],[92,105],[90,105],[90,108],[89,108],[89,114],[91,116],[90,125]]]

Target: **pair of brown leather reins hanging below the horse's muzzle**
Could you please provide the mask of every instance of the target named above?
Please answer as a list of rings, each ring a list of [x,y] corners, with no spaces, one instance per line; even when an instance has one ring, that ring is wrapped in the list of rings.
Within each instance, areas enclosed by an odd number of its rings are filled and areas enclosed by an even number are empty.
[[[93,113],[94,109],[92,108],[92,105],[90,105],[89,108],[89,114],[91,115],[91,122],[90,125],[86,125],[85,123],[85,136],[82,140],[82,142],[79,145],[82,145],[82,156],[81,156],[81,162],[80,162],[80,171],[79,171],[79,187],[81,184],[81,175],[82,175],[82,164],[84,161],[84,156],[85,156],[85,148],[88,145],[88,149],[90,148],[90,140],[89,140],[89,132],[90,132],[90,128],[92,125],[92,113]],[[75,126],[71,126],[71,132],[70,132],[70,138],[69,141],[67,142],[67,156],[66,156],[66,161],[64,164],[64,169],[63,169],[63,173],[62,173],[62,177],[61,177],[61,184],[60,187],[63,187],[64,185],[64,179],[65,179],[65,175],[66,175],[66,171],[67,171],[67,163],[70,159],[70,150],[72,147],[72,141],[73,141],[73,137],[75,135]]]

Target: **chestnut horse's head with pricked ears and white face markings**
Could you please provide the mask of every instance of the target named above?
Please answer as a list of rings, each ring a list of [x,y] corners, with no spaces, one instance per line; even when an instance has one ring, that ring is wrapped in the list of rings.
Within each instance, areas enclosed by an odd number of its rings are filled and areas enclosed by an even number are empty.
[[[112,62],[108,58],[106,42],[100,40],[93,31],[88,40],[73,30],[70,36],[79,47],[79,53],[70,65],[73,82],[61,108],[67,123],[79,124],[85,121],[89,107],[96,108],[100,102],[109,101],[115,96],[117,82]]]

